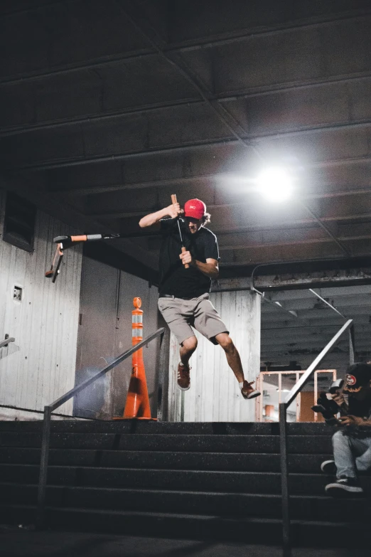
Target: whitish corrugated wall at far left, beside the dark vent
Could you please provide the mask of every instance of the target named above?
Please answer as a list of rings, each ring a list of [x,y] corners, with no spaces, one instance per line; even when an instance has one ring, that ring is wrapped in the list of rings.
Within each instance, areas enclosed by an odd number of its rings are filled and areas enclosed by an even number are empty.
[[[0,191],[1,233],[4,201]],[[44,276],[55,250],[53,237],[70,233],[38,211],[33,253],[0,240],[0,338],[6,333],[16,338],[0,349],[0,404],[41,410],[75,383],[81,249],[66,252],[55,284]],[[21,302],[13,300],[14,285],[23,288]],[[72,413],[72,402],[58,412]]]

